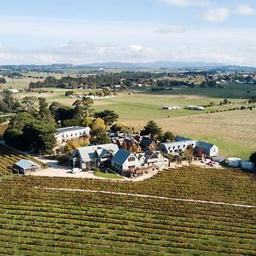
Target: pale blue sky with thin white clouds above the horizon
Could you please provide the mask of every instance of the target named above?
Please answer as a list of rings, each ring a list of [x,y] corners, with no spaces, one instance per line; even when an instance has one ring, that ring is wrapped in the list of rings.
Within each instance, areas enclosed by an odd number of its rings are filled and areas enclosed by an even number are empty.
[[[256,67],[256,0],[3,0],[0,64]]]

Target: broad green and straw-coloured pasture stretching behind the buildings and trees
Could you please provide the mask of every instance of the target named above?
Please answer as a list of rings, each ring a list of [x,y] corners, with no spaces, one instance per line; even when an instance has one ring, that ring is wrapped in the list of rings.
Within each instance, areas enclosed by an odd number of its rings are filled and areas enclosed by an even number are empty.
[[[49,103],[61,102],[71,106],[76,99],[64,94],[65,90],[49,89],[46,93],[29,95],[43,96]],[[241,84],[228,84],[222,89],[176,88],[157,92],[151,92],[149,88],[136,88],[119,92],[118,96],[111,99],[96,100],[93,108],[96,111],[114,110],[119,114],[119,122],[134,126],[136,131],[153,119],[165,131],[216,143],[220,154],[224,156],[248,158],[256,150],[253,128],[256,127],[255,108],[252,111],[219,111],[248,107],[246,102],[253,95],[256,95],[255,85]],[[20,94],[20,97],[23,96],[27,94]],[[162,109],[164,105],[181,108],[187,105],[208,105],[210,102],[218,105],[224,98],[228,98],[231,104],[207,108],[206,112]],[[213,111],[218,113],[211,113]]]

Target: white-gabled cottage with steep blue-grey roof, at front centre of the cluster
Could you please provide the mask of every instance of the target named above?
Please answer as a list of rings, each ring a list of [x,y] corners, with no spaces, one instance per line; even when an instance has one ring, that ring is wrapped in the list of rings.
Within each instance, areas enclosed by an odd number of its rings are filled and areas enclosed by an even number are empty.
[[[140,165],[137,157],[134,154],[128,152],[127,150],[119,149],[111,160],[111,166],[124,173],[135,170]]]

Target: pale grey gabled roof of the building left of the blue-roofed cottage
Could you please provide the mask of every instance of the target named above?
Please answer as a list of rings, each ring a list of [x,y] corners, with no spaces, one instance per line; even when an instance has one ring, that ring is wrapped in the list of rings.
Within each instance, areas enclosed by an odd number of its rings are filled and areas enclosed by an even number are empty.
[[[82,148],[75,148],[74,152],[78,151],[83,160],[86,160],[86,159],[92,160],[92,159],[95,159],[96,157],[99,157],[101,159],[102,156],[106,154],[109,150],[113,151],[113,154],[115,154],[119,150],[119,147],[116,144],[109,143],[109,144],[93,145],[93,146],[82,147]]]

